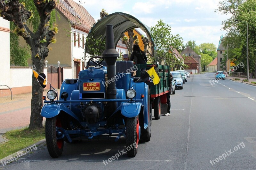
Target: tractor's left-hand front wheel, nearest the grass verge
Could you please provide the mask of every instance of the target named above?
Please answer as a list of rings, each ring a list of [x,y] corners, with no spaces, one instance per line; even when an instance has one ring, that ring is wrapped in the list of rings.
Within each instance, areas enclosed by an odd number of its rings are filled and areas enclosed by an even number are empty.
[[[45,141],[48,152],[52,158],[58,158],[62,154],[64,140],[57,140],[57,127],[61,126],[60,119],[55,116],[52,118],[46,118],[45,121]]]

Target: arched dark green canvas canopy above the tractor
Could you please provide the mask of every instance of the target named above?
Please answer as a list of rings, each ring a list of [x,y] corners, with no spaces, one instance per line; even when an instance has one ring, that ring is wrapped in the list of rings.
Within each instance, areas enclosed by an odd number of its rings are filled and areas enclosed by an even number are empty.
[[[91,47],[91,45],[94,43],[93,41],[91,41],[92,37],[93,39],[99,38],[101,39],[101,41],[105,39],[106,25],[113,25],[115,46],[122,37],[123,33],[133,28],[140,28],[142,31],[144,31],[147,34],[148,39],[151,40],[153,47],[155,46],[153,38],[151,37],[151,34],[148,30],[150,29],[148,26],[144,25],[139,19],[133,17],[132,15],[123,12],[115,12],[101,18],[97,23],[92,26],[85,43],[85,50],[87,53],[91,54],[88,47]]]

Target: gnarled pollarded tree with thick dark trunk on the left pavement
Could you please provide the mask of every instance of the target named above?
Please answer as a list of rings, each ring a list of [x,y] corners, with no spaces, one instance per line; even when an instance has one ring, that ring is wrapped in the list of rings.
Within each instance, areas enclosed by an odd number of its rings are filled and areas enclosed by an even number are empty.
[[[0,5],[1,17],[12,21],[16,26],[14,33],[23,37],[29,45],[32,53],[32,64],[37,72],[44,71],[44,60],[49,53],[47,47],[49,44],[56,42],[54,36],[58,33],[58,28],[52,26],[53,21],[51,20],[52,15],[55,15],[55,13],[52,13],[55,7],[56,3],[54,0],[26,0],[21,3],[19,0],[12,0],[6,1],[4,5]],[[29,28],[29,23],[32,24],[33,31]],[[43,106],[43,90],[33,75],[29,124],[31,129],[43,128],[43,117],[40,115]]]

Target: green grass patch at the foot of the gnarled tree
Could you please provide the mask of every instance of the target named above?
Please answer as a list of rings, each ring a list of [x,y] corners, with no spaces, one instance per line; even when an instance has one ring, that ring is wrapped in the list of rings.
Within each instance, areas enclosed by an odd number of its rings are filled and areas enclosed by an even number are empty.
[[[36,142],[44,139],[45,130],[44,128],[34,130],[24,128],[8,131],[4,135],[9,140],[4,144],[0,144],[0,159],[5,158],[8,155],[16,153],[21,149],[31,146]]]

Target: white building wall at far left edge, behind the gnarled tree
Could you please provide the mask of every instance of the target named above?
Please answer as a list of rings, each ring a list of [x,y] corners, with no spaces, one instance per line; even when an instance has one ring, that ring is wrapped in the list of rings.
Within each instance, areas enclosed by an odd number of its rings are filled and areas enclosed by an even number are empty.
[[[4,30],[10,29],[9,21],[0,17],[0,42],[3,44],[0,46],[0,85],[8,85],[11,87],[10,80],[10,33]],[[1,86],[0,89],[6,89],[7,87]]]

